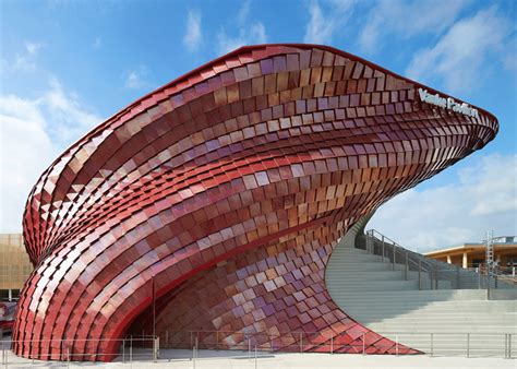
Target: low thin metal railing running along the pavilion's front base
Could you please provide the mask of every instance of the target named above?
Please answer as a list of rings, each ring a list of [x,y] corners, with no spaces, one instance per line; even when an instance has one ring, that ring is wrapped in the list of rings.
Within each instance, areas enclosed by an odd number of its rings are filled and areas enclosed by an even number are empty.
[[[195,360],[197,358],[197,352],[200,348],[202,349],[239,349],[247,352],[250,357],[255,356],[258,352],[278,352],[278,350],[287,350],[287,352],[311,352],[313,349],[316,350],[325,350],[329,354],[339,353],[339,352],[354,352],[357,354],[366,354],[368,345],[365,344],[369,338],[374,337],[374,340],[378,340],[377,333],[374,332],[365,332],[362,333],[358,338],[353,342],[344,343],[341,341],[336,341],[336,333],[333,331],[276,331],[276,332],[242,332],[242,331],[176,331],[176,330],[165,330],[165,331],[156,331],[156,336],[127,336],[124,338],[113,338],[113,340],[55,340],[61,341],[61,344],[65,348],[61,360],[63,361],[71,361],[71,360],[81,360],[84,357],[95,358],[97,356],[120,356],[120,359],[123,364],[125,362],[133,362],[133,360],[139,361],[154,361],[157,362],[160,360],[160,349],[163,348],[191,348],[192,349],[192,359]],[[175,340],[175,334],[177,333],[184,333],[182,335],[182,340],[178,341]],[[225,340],[216,340],[214,341],[214,336],[218,337],[221,333],[232,333],[243,335],[242,340],[238,340],[237,342],[229,343]],[[465,355],[466,357],[471,357],[478,355],[489,355],[489,356],[501,356],[505,358],[514,358],[515,357],[515,346],[513,347],[512,342],[515,341],[516,334],[509,332],[493,332],[493,333],[479,333],[479,332],[380,332],[382,335],[390,337],[392,342],[385,343],[386,349],[393,349],[395,343],[395,353],[399,354],[399,348],[404,349],[407,348],[407,344],[405,343],[406,340],[413,337],[413,338],[422,338],[419,340],[419,350],[426,353],[431,356],[433,355]],[[289,335],[292,340],[289,343],[285,343],[282,341],[278,341],[278,338]],[[262,340],[266,336],[266,340]],[[459,346],[447,346],[444,345],[436,345],[438,343],[437,338],[443,336],[449,337],[458,337],[456,340],[458,343],[462,343]],[[172,338],[172,340],[169,340]],[[465,340],[464,340],[465,338]],[[135,345],[140,340],[141,344]],[[482,340],[482,344],[481,343]],[[494,341],[492,341],[494,340]],[[498,340],[498,341],[496,341]],[[97,350],[96,348],[91,350],[85,347],[83,350],[77,348],[72,349],[72,345],[76,342],[106,342],[112,341],[117,343],[121,343],[120,349],[118,353],[105,354],[101,350]],[[142,346],[144,342],[152,341],[152,347],[149,350],[143,350],[146,348]],[[488,341],[492,341],[493,345],[491,347],[485,347],[485,343]],[[32,345],[37,345],[40,341],[32,341],[32,340],[22,340],[22,341],[12,341],[12,340],[4,340],[1,342],[0,350],[2,356],[2,365],[8,366],[9,361],[13,360],[21,360],[24,367],[29,366],[29,361],[23,358],[10,358],[11,347],[14,343],[29,343]],[[277,346],[277,344],[279,346]],[[495,346],[494,346],[495,345]],[[376,344],[377,348],[383,348],[383,344]],[[137,350],[135,350],[137,348]],[[349,350],[351,349],[351,350]],[[254,355],[253,355],[254,354]],[[34,359],[49,359],[52,354],[40,353],[36,355],[33,360],[33,365],[35,365]],[[231,354],[226,354],[227,357],[231,356]],[[170,362],[170,359],[163,358],[161,360],[167,360]],[[40,365],[40,364],[36,364]]]

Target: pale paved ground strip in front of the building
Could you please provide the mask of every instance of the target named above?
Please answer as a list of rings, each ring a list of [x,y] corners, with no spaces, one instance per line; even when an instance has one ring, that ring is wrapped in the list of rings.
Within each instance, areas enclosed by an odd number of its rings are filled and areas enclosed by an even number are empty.
[[[8,352],[5,352],[7,354]],[[14,356],[8,356],[4,368],[184,368],[184,369],[293,369],[293,368],[486,368],[505,369],[517,368],[517,360],[503,358],[465,358],[465,357],[429,357],[418,356],[387,356],[387,355],[332,355],[332,354],[267,354],[254,355],[242,352],[200,350],[199,358],[192,360],[192,352],[185,349],[163,349],[160,359],[152,361],[148,352],[135,352],[132,362],[122,362],[119,356],[115,362],[45,362],[32,361]]]

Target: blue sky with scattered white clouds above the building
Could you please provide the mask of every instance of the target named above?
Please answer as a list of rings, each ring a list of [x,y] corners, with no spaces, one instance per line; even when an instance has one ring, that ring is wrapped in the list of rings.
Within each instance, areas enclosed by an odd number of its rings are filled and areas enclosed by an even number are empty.
[[[130,103],[243,45],[330,45],[494,114],[497,138],[369,224],[425,251],[517,235],[515,1],[0,1],[0,233],[39,175]]]

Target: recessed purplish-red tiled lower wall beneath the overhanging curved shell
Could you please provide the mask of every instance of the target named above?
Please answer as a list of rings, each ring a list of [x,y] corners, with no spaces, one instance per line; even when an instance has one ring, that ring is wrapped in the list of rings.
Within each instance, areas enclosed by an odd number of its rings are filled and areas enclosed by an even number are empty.
[[[394,346],[339,310],[324,283],[336,227],[310,227],[200,273],[157,303],[163,347],[368,354],[414,353]],[[130,334],[152,334],[151,308]]]

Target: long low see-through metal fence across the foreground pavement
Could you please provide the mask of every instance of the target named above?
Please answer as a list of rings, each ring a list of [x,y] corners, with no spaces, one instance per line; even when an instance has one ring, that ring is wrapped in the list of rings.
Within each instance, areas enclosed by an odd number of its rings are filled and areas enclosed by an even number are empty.
[[[372,333],[369,333],[372,334]],[[191,360],[195,367],[199,349],[217,350],[218,357],[247,357],[257,360],[272,353],[327,353],[327,354],[372,354],[368,345],[369,334],[363,334],[353,343],[346,344],[340,337],[325,336],[322,332],[287,332],[284,334],[244,333],[228,331],[160,331],[156,336],[127,336],[121,340],[67,340],[52,341],[51,353],[39,353],[32,359],[16,357],[11,352],[13,344],[24,344],[36,350],[45,341],[2,341],[2,365],[23,366],[38,365],[37,360],[60,360],[70,365],[71,361],[95,360],[101,357],[119,364],[132,362],[169,362],[171,360]],[[462,357],[500,357],[516,358],[515,334],[510,333],[384,333],[395,342],[375,344],[376,352],[392,349],[394,355],[402,355],[407,350],[405,344],[430,356]],[[218,337],[220,338],[218,341]],[[47,341],[48,343],[48,341]],[[116,343],[119,352],[104,354],[88,347],[103,347],[103,344]],[[79,350],[77,347],[84,347]],[[172,349],[173,348],[173,349]],[[395,349],[394,349],[395,348]]]

